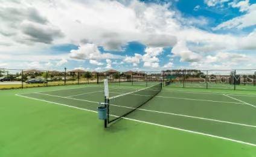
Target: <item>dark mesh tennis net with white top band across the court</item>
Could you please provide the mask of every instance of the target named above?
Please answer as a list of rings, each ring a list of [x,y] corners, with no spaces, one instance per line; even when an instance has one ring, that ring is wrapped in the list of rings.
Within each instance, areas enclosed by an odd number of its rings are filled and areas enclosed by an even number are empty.
[[[109,97],[107,122],[114,122],[115,120],[130,114],[130,112],[135,111],[140,106],[149,102],[149,100],[156,96],[161,90],[162,83],[159,83],[147,88]]]

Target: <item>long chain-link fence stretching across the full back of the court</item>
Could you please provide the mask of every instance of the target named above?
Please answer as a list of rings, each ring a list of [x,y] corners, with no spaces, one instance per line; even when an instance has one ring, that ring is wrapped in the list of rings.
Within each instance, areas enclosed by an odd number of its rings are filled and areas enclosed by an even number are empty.
[[[256,90],[256,69],[238,70],[165,70],[161,72],[85,72],[83,70],[0,69],[0,89],[47,87],[70,84],[103,84],[148,87],[156,82],[168,87],[225,90]]]

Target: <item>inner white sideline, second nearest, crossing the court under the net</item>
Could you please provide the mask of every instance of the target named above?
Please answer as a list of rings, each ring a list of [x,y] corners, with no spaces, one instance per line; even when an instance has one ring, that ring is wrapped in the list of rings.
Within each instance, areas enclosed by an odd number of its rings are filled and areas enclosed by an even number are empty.
[[[42,93],[37,93],[37,94],[42,94]],[[71,97],[55,96],[55,95],[50,95],[50,94],[43,94],[43,95],[46,95],[46,96],[53,96],[53,97],[62,97],[62,98],[64,98],[64,99],[74,99],[74,98],[71,98]],[[93,101],[84,100],[84,99],[74,99],[74,100],[80,100],[80,101],[85,101],[85,102],[98,103],[98,102],[93,102]],[[136,109],[136,108],[132,108],[132,107],[129,107],[129,106],[115,105],[115,104],[112,104],[112,103],[111,103],[111,105],[112,105],[112,106],[118,106],[118,107],[121,107],[121,108]],[[252,128],[256,128],[256,126],[253,126],[253,125],[246,125],[246,124],[242,124],[242,123],[234,123],[234,122],[228,122],[228,121],[223,121],[223,120],[215,120],[215,119],[206,119],[206,118],[203,118],[203,117],[196,117],[196,116],[184,115],[184,114],[174,114],[174,113],[171,113],[171,112],[161,112],[161,111],[155,111],[155,110],[150,110],[150,109],[141,109],[141,108],[137,108],[137,109],[138,109],[138,110],[141,110],[141,111],[156,112],[156,113],[161,113],[161,114],[178,115],[178,116],[181,116],[181,117],[189,117],[189,118],[201,119],[201,120],[210,120],[210,121],[214,121],[214,122],[229,123],[229,124],[232,124],[232,125],[241,125],[241,126],[249,126],[249,127],[252,127]]]

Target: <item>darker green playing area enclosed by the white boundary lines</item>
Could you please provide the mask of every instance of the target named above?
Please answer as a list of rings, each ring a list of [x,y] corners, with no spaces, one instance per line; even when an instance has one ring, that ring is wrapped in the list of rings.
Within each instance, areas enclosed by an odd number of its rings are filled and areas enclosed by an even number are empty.
[[[109,94],[114,97],[141,88],[114,85],[110,86]],[[104,90],[101,85],[21,93],[17,96],[34,99],[35,102],[42,100],[53,105],[66,105],[92,112],[97,112],[98,102],[104,102]],[[120,116],[127,108],[131,108],[129,104],[141,102],[143,97],[147,96],[149,94],[136,93],[121,97],[114,101],[115,106],[110,114]],[[255,102],[256,94],[193,92],[165,87],[153,99],[126,115],[124,119],[256,146]],[[122,120],[116,123],[122,123]]]

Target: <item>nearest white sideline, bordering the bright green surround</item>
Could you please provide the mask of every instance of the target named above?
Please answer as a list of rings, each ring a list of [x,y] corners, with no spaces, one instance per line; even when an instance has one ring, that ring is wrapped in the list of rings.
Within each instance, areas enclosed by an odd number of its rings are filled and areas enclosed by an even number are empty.
[[[97,111],[92,111],[90,109],[78,108],[78,107],[66,105],[66,104],[63,104],[63,103],[50,102],[50,101],[47,101],[47,100],[36,99],[36,98],[33,98],[33,97],[22,96],[22,95],[19,95],[19,94],[16,94],[16,96],[26,97],[27,99],[40,100],[40,101],[48,102],[48,103],[54,103],[56,105],[67,106],[67,107],[70,107],[70,108],[81,109],[81,110],[90,111],[90,112],[97,112]],[[171,127],[171,126],[159,125],[159,124],[156,124],[156,123],[150,123],[150,122],[145,122],[145,121],[136,120],[136,119],[129,119],[129,118],[126,118],[126,117],[122,117],[122,119],[132,120],[132,121],[139,122],[139,123],[146,123],[146,124],[149,124],[149,125],[161,126],[162,128],[168,128],[168,129],[174,129],[174,130],[183,131],[183,132],[189,132],[191,134],[204,135],[206,137],[219,138],[219,139],[222,139],[222,140],[232,141],[232,142],[241,143],[241,144],[247,144],[249,146],[256,147],[256,144],[247,143],[247,142],[244,142],[244,141],[233,140],[231,138],[225,138],[225,137],[220,137],[220,136],[216,136],[216,135],[205,134],[205,133],[202,133],[202,132],[196,132],[196,131],[190,131],[190,130],[187,130],[187,129],[175,128],[175,127]]]

